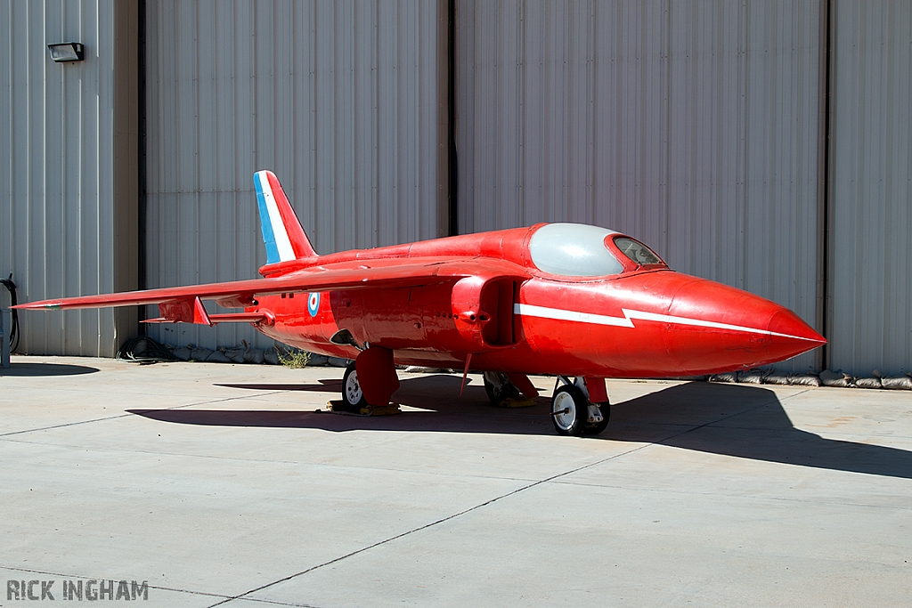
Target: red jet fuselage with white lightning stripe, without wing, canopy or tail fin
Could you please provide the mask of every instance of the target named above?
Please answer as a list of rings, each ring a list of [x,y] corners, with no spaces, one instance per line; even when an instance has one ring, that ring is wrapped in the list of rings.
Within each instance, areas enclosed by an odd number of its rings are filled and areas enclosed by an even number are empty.
[[[358,288],[258,299],[265,335],[329,356],[355,358],[330,342],[347,329],[359,345],[382,346],[397,363],[598,377],[695,376],[780,361],[820,344],[788,309],[661,265],[610,277],[565,277],[534,267],[534,227],[321,256],[321,269],[371,268],[435,255],[506,261],[514,277],[453,277],[389,289]],[[373,265],[372,265],[373,264]],[[264,276],[312,266],[265,266]],[[465,285],[464,283],[473,283]]]

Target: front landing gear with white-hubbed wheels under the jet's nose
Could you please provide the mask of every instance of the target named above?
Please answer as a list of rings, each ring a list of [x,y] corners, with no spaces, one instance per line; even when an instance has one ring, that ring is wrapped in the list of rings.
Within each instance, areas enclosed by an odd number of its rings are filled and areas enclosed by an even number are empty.
[[[609,407],[605,380],[590,378],[589,385],[582,377],[570,381],[557,376],[562,386],[555,386],[551,399],[551,420],[558,435],[598,435],[608,426]],[[590,391],[591,388],[591,391]],[[590,397],[604,397],[596,403]]]

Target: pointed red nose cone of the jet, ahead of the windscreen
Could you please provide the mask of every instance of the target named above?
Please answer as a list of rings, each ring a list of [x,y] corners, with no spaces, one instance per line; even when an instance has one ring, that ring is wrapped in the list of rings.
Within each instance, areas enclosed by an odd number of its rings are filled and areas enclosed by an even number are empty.
[[[768,365],[826,343],[788,308],[713,281],[684,285],[668,314],[668,351],[685,376]]]

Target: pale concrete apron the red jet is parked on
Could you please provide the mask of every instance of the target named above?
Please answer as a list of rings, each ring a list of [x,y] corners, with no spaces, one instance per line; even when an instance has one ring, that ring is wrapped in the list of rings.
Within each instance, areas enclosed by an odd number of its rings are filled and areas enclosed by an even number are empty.
[[[356,417],[343,371],[13,356],[0,605],[912,604],[912,392],[609,380],[573,438],[554,378]]]

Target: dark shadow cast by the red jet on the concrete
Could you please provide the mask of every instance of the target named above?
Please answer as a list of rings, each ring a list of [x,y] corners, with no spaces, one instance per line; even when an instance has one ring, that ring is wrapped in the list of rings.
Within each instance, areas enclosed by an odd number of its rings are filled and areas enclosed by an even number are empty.
[[[458,376],[404,379],[394,397],[421,410],[385,417],[295,410],[128,411],[162,422],[203,426],[554,435],[550,399],[539,397],[533,407],[502,409],[488,405],[482,386],[466,386],[459,397],[460,384]],[[327,392],[333,383],[233,386]],[[760,386],[705,382],[668,386],[612,406],[608,428],[592,439],[656,443],[742,459],[912,479],[912,452],[822,438],[794,428],[776,394]]]

